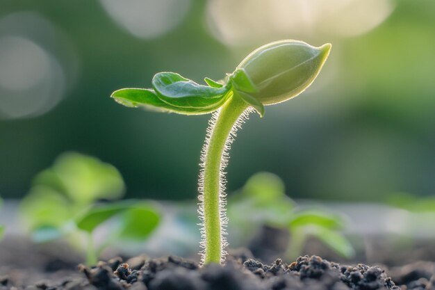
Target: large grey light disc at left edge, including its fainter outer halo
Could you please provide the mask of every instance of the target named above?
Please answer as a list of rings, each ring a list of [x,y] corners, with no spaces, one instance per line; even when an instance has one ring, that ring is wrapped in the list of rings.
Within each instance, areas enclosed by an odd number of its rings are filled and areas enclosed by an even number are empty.
[[[44,17],[19,12],[1,18],[0,119],[50,111],[74,82],[77,63],[69,40]]]

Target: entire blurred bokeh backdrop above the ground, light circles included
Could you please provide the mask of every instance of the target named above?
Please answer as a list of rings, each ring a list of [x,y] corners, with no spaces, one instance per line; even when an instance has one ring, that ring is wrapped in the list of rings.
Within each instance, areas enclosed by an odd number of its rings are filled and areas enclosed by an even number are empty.
[[[432,0],[0,0],[0,195],[76,151],[117,167],[126,197],[195,198],[209,116],[110,93],[161,71],[220,79],[284,38],[333,49],[309,90],[239,132],[229,191],[268,170],[292,198],[433,195],[434,27]]]

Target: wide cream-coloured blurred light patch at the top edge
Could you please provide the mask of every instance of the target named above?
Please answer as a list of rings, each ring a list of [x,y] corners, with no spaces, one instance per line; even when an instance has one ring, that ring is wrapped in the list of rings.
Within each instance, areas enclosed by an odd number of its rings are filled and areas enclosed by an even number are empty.
[[[207,18],[219,40],[245,45],[307,35],[359,35],[381,24],[394,7],[391,0],[208,0]]]

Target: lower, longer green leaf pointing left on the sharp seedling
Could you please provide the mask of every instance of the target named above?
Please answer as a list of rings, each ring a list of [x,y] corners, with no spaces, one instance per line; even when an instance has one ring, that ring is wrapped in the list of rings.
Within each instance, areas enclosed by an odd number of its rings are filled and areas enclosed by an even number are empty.
[[[154,90],[143,88],[123,88],[116,90],[111,95],[119,104],[129,107],[138,107],[152,110],[179,113],[183,115],[202,115],[216,111],[229,95],[221,95],[220,98],[165,98],[156,95]],[[164,100],[163,100],[164,99]]]

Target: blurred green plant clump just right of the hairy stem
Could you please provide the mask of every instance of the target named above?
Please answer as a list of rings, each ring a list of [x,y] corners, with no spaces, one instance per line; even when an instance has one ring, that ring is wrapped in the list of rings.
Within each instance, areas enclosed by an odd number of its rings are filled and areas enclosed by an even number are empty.
[[[322,209],[301,209],[286,195],[284,182],[270,172],[256,173],[231,196],[229,216],[245,236],[253,236],[258,225],[288,229],[286,259],[299,257],[309,237],[345,258],[354,256],[354,248],[342,233],[343,216]]]

